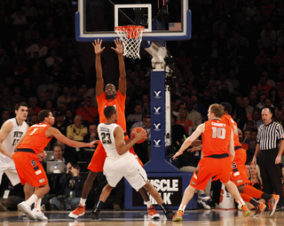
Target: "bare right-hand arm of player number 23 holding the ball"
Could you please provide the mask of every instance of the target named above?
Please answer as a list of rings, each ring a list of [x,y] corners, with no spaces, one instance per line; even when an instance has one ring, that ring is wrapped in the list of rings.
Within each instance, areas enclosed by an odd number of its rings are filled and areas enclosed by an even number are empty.
[[[138,140],[142,139],[143,132],[137,133],[133,139],[129,139],[127,144],[124,143],[124,131],[121,127],[117,127],[114,129],[114,137],[115,137],[115,147],[119,154],[123,154],[130,150],[130,148],[138,142]]]

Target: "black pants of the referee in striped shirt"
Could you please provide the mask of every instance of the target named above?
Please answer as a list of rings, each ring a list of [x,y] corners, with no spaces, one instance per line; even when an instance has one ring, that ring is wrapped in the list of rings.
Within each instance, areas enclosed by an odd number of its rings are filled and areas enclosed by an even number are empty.
[[[283,187],[281,183],[281,164],[275,165],[279,149],[262,150],[259,156],[260,175],[263,180],[263,191],[280,195],[279,206],[284,206]]]

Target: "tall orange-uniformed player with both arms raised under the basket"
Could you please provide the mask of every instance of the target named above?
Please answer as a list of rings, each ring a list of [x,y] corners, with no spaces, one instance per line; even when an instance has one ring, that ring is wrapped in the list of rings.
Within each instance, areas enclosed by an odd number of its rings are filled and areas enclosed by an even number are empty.
[[[125,120],[125,98],[126,98],[126,90],[127,90],[127,84],[126,84],[126,74],[125,74],[125,66],[124,66],[124,59],[122,57],[123,47],[122,47],[122,41],[121,40],[114,40],[116,48],[112,49],[117,53],[118,61],[119,61],[119,89],[116,91],[114,84],[108,83],[106,84],[106,88],[104,90],[104,79],[103,79],[103,71],[101,66],[101,53],[105,50],[104,48],[101,48],[101,40],[95,40],[93,44],[94,51],[96,53],[96,73],[97,73],[97,83],[96,83],[96,96],[97,96],[97,102],[98,102],[98,111],[99,111],[99,122],[104,123],[106,122],[106,117],[104,115],[104,109],[107,105],[114,105],[116,107],[116,110],[118,112],[118,121],[117,124],[120,125],[126,134],[126,120]],[[124,139],[129,139],[128,136],[124,136]],[[135,154],[133,147],[130,148],[130,152]],[[136,155],[136,154],[135,154]],[[137,157],[137,155],[136,155]],[[137,157],[138,158],[138,157]],[[86,182],[83,185],[83,191],[82,196],[80,199],[80,204],[78,207],[72,211],[68,216],[71,218],[76,219],[78,216],[85,214],[85,203],[88,198],[88,194],[91,191],[91,187],[93,184],[93,181],[96,179],[99,171],[103,171],[104,163],[106,160],[106,151],[99,142],[98,147],[96,149],[96,152],[94,152],[90,165],[88,169],[90,170],[90,173],[87,177]],[[141,163],[142,164],[142,163]],[[146,206],[148,208],[148,216],[152,219],[160,219],[160,214],[156,212],[154,207],[151,204],[151,201],[149,199],[149,196],[144,188],[141,188],[139,190],[142,198],[146,202]],[[168,218],[171,219],[172,212],[167,212]]]

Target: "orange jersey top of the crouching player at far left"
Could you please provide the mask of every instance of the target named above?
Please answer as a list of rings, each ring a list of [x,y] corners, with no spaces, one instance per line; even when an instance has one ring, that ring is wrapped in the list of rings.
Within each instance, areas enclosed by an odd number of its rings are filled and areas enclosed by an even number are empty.
[[[46,123],[39,123],[31,126],[28,129],[27,135],[20,143],[18,149],[31,149],[36,154],[43,152],[43,149],[51,141],[51,138],[45,136],[45,132],[51,125]]]

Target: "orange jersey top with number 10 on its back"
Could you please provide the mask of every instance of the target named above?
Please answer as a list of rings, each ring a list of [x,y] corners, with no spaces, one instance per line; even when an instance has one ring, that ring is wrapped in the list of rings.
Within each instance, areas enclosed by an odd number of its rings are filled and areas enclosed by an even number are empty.
[[[220,120],[204,122],[205,129],[202,135],[203,157],[229,153],[231,128]]]

